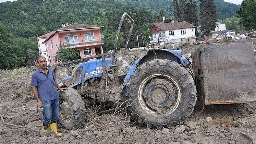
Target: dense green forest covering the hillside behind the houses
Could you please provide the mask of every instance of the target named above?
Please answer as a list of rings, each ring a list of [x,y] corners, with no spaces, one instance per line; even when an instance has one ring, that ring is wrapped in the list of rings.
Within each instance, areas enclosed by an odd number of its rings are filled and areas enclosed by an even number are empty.
[[[199,17],[199,0],[197,17]],[[219,21],[236,17],[240,5],[214,0]],[[17,0],[0,3],[0,69],[31,66],[38,56],[36,38],[61,27],[61,23],[82,23],[104,26],[104,51],[113,48],[120,17],[128,13],[135,26],[129,47],[147,42],[153,23],[174,18],[172,0]],[[233,18],[234,19],[234,18]],[[239,19],[238,19],[239,20]],[[199,23],[194,23],[199,25]],[[239,30],[239,28],[236,27]],[[129,25],[124,25],[119,44],[125,42]],[[143,34],[143,35],[142,35]]]

